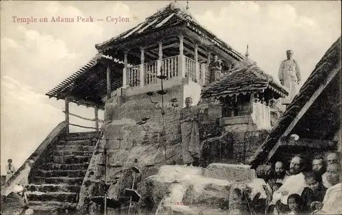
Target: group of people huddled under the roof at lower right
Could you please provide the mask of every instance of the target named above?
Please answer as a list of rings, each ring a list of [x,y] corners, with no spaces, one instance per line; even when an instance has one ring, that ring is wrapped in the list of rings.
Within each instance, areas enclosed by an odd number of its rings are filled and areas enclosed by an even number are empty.
[[[267,182],[269,214],[342,214],[341,155],[292,158],[289,171],[278,161]]]

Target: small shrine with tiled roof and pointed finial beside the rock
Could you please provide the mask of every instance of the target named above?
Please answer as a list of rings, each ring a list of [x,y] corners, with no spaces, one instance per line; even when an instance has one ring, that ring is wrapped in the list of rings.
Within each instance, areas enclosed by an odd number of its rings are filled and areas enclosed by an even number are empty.
[[[238,68],[202,89],[201,103],[219,103],[216,106],[221,106],[220,126],[233,130],[269,130],[274,102],[287,95],[285,87],[249,58],[247,48]]]

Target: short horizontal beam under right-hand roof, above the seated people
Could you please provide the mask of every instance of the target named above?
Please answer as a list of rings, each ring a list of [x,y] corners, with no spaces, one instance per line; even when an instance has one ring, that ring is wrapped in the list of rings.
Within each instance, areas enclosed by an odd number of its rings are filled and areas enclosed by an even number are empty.
[[[304,146],[314,147],[317,149],[332,149],[337,146],[337,141],[324,140],[324,139],[304,139],[300,138],[295,141],[294,137],[287,136],[280,138],[280,146]]]

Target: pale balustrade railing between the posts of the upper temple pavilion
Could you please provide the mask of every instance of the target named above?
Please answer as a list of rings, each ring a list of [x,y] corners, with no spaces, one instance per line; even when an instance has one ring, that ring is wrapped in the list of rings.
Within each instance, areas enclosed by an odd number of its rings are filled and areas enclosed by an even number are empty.
[[[157,72],[158,72],[158,60],[150,61],[142,65],[144,78],[140,80],[140,65],[127,67],[127,85],[131,87],[140,86],[140,82],[143,81],[142,85],[151,85],[158,83]],[[166,80],[170,80],[181,73],[179,71],[179,56],[167,57],[161,60],[161,70],[166,75]],[[190,80],[196,80],[196,61],[185,56],[185,76],[189,77]],[[199,78],[202,80],[200,83],[203,85],[209,84],[209,71],[208,66],[205,63],[200,64]]]

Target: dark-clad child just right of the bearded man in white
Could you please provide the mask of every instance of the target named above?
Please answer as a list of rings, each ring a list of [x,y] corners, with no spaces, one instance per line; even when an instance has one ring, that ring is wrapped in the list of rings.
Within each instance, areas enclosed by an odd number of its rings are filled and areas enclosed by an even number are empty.
[[[319,173],[313,171],[304,173],[306,188],[302,192],[302,203],[306,212],[316,210],[317,202],[322,202],[326,195],[327,188],[324,187],[322,177]]]

